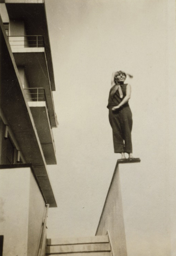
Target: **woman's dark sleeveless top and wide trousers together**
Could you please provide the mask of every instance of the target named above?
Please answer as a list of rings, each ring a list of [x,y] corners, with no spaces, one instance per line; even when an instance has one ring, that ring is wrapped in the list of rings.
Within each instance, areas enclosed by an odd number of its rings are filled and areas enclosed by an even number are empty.
[[[112,107],[119,105],[119,103],[126,96],[126,86],[127,84],[122,84],[121,89],[123,93],[123,98],[120,98],[119,91],[117,90],[113,95],[109,92],[109,99],[107,108],[109,109],[109,123],[112,127],[113,132],[113,143],[115,153],[132,153],[132,142],[131,142],[131,130],[132,130],[132,113],[128,102],[122,105],[115,111],[112,111]]]

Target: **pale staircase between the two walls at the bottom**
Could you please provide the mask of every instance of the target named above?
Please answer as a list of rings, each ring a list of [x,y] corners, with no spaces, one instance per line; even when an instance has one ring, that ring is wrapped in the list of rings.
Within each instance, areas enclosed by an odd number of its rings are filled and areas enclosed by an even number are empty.
[[[47,239],[46,255],[112,256],[108,236]]]

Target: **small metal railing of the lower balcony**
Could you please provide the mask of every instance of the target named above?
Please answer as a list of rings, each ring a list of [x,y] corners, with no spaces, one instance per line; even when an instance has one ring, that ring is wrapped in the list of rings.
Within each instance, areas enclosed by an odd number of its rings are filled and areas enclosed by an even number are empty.
[[[44,88],[24,88],[28,101],[46,101]]]

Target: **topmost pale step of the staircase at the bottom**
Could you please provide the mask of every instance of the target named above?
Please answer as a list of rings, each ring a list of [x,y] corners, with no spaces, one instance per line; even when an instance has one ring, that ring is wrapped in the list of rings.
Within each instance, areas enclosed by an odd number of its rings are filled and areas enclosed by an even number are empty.
[[[108,236],[51,238],[47,239],[46,243],[47,245],[109,243],[109,238]]]

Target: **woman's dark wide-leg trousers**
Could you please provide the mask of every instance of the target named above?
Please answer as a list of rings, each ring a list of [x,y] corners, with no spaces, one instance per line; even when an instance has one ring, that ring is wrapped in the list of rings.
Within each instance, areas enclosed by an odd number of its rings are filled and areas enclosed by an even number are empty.
[[[132,113],[129,106],[112,111],[109,108],[109,123],[113,132],[113,143],[115,153],[132,153]]]

